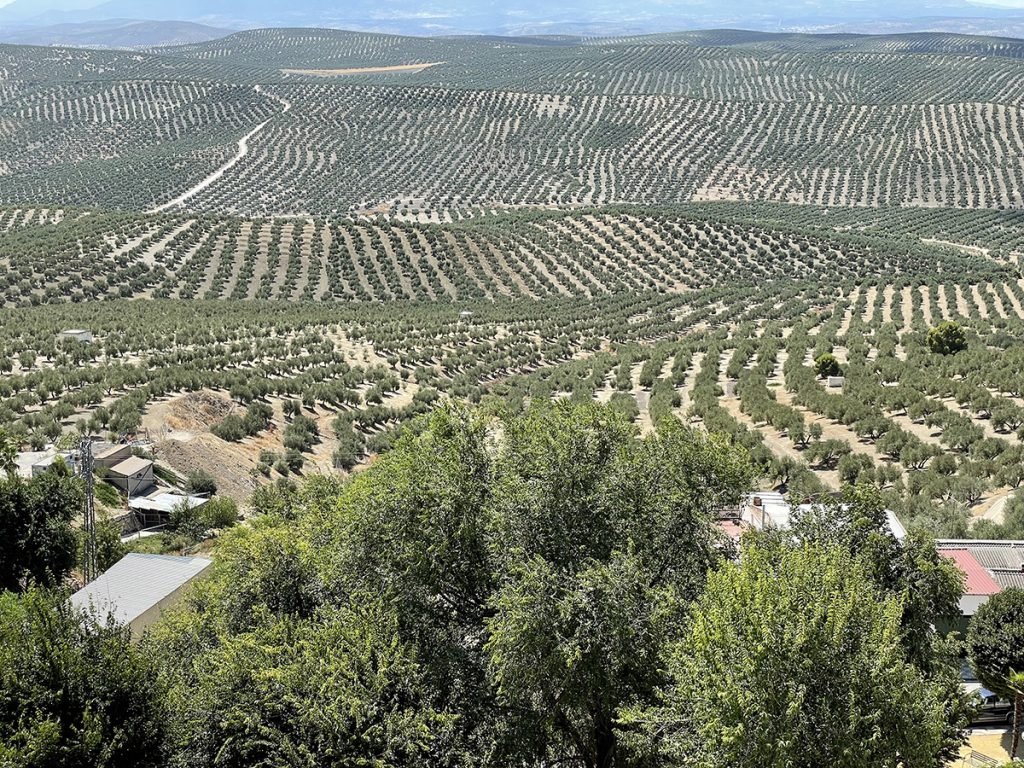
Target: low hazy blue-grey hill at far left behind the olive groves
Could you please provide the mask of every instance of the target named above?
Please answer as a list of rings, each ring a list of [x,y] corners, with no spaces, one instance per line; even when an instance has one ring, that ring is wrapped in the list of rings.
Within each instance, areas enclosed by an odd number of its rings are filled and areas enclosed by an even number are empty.
[[[0,29],[0,43],[79,48],[154,48],[205,43],[230,35],[231,32],[195,22],[111,19]]]

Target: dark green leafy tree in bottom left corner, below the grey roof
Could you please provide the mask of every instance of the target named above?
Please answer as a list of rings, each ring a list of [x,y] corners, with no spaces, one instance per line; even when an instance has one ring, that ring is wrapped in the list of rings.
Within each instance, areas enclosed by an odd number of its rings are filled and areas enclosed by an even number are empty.
[[[61,596],[0,595],[0,765],[163,766],[163,689],[128,631]]]

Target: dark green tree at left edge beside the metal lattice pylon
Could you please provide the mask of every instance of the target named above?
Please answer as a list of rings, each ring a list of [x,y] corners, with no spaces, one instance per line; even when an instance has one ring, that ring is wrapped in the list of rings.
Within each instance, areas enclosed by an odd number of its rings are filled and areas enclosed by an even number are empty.
[[[54,466],[31,480],[0,480],[0,590],[59,584],[75,566],[72,520],[82,509],[81,481]]]

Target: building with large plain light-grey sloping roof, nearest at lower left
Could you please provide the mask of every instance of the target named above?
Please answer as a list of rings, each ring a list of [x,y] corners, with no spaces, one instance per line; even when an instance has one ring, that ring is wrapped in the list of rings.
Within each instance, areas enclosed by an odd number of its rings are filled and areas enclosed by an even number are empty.
[[[189,584],[205,578],[212,564],[202,557],[131,553],[72,595],[71,603],[109,616],[138,638],[181,599]]]

